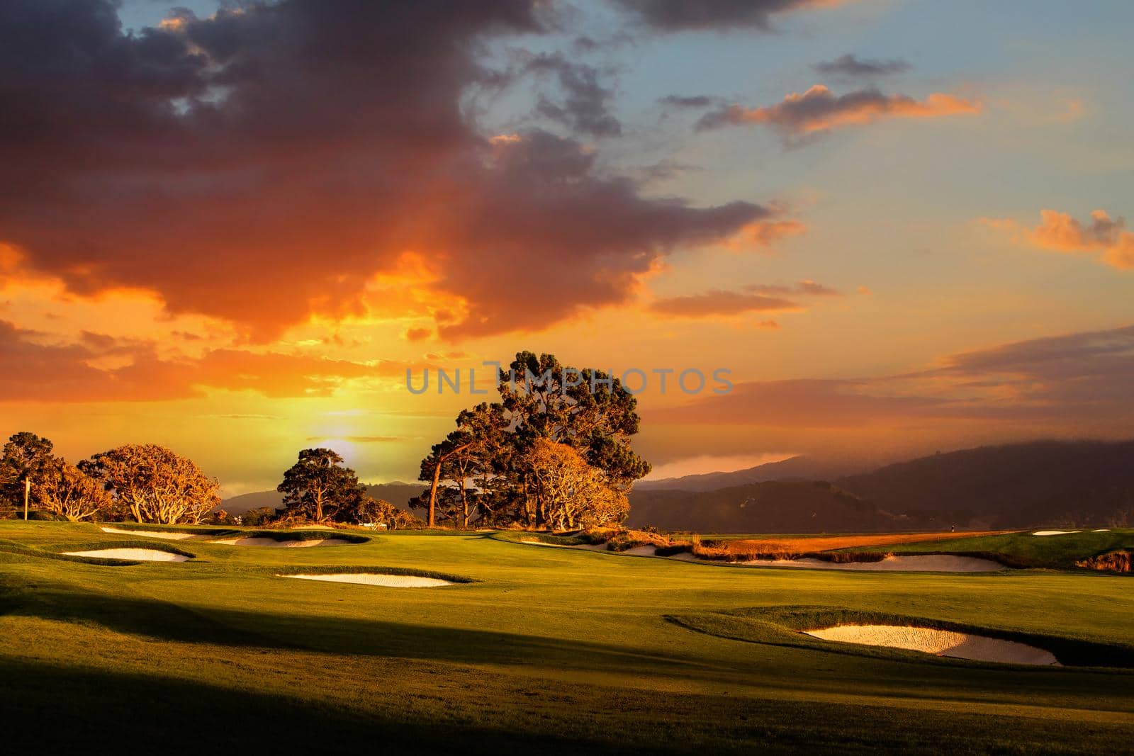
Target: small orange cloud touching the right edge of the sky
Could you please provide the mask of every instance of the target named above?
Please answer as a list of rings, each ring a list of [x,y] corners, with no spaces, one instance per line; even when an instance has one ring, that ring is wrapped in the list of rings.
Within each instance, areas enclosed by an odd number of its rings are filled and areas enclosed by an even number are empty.
[[[1089,223],[1055,210],[1041,210],[1040,224],[1032,229],[1021,229],[1006,219],[982,219],[982,222],[1013,232],[1017,244],[1064,253],[1094,253],[1111,267],[1134,269],[1134,232],[1126,230],[1125,219],[1111,218],[1105,210],[1093,211]]]

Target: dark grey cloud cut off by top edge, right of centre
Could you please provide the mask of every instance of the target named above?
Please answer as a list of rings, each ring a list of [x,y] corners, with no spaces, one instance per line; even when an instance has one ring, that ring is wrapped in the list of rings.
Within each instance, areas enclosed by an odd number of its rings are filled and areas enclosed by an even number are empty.
[[[612,0],[660,32],[770,28],[775,14],[839,5],[839,0]]]

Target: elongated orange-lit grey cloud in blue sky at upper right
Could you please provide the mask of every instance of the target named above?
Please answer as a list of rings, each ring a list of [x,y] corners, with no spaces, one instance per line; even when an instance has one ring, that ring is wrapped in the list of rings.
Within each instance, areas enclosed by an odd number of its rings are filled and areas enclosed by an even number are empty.
[[[939,118],[973,114],[981,103],[940,92],[916,101],[904,94],[886,95],[874,88],[836,95],[822,84],[792,94],[767,108],[728,105],[705,113],[699,129],[744,124],[770,124],[790,134],[812,134],[843,126],[871,124],[883,118]]]

